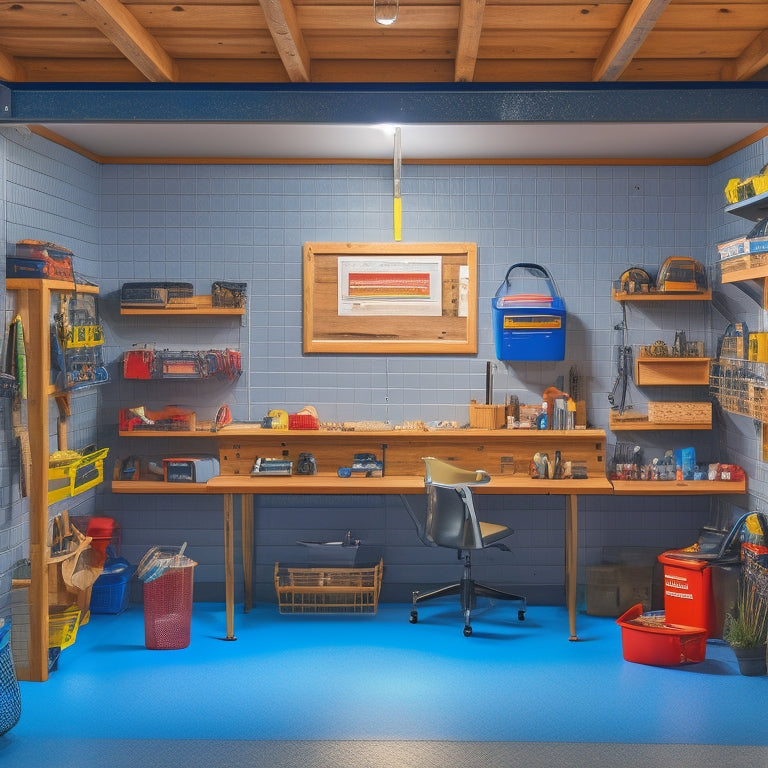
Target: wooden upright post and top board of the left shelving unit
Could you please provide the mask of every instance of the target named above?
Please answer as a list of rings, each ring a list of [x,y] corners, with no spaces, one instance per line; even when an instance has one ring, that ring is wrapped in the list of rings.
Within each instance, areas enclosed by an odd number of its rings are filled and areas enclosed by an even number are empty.
[[[54,293],[98,294],[98,286],[75,285],[63,280],[9,278],[7,291],[16,292],[18,313],[24,323],[27,348],[29,451],[32,482],[29,483],[28,586],[29,666],[17,670],[19,679],[42,682],[48,679],[49,571],[58,568],[48,546],[48,459],[50,413],[50,318]]]

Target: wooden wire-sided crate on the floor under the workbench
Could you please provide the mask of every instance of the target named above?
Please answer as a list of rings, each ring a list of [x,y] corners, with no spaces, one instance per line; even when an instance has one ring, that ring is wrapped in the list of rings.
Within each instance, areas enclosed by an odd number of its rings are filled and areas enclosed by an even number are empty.
[[[358,568],[307,568],[275,563],[280,613],[376,613],[384,561]]]

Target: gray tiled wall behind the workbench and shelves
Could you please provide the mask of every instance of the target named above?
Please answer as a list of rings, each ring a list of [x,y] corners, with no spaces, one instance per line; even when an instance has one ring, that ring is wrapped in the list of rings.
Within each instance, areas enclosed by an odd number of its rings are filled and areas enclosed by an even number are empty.
[[[739,233],[737,221],[719,214],[721,177],[749,175],[765,147],[751,147],[707,167],[405,165],[403,240],[472,241],[478,245],[479,353],[477,356],[312,355],[301,351],[302,244],[306,241],[391,241],[391,168],[365,165],[106,165],[95,166],[67,150],[32,139],[34,149],[6,140],[6,167],[31,152],[55,166],[53,189],[88,179],[94,219],[83,232],[61,225],[51,239],[73,247],[101,286],[102,313],[113,381],[98,390],[99,442],[111,449],[109,467],[131,453],[158,457],[191,449],[214,451],[200,441],[117,439],[117,411],[128,405],[194,406],[202,417],[228,403],[238,420],[259,420],[271,408],[289,412],[314,405],[321,419],[468,418],[470,399],[485,393],[485,363],[494,360],[491,297],[507,268],[534,261],[555,277],[568,310],[567,359],[557,363],[498,363],[495,398],[517,395],[536,402],[540,393],[576,367],[588,399],[590,421],[608,428],[607,393],[613,386],[614,326],[621,308],[610,298],[611,281],[630,265],[655,272],[672,254],[713,262],[721,234]],[[721,167],[722,166],[722,167]],[[737,172],[734,172],[737,171]],[[16,172],[16,171],[14,171]],[[28,184],[37,184],[29,171]],[[92,183],[92,186],[90,184]],[[85,189],[83,192],[85,192]],[[8,208],[32,195],[9,186]],[[34,196],[34,195],[33,195]],[[57,198],[58,199],[58,198]],[[43,194],[37,203],[50,207]],[[38,236],[35,220],[8,216],[5,240]],[[18,221],[17,221],[18,218]],[[723,218],[723,221],[720,219]],[[91,229],[91,226],[95,229]],[[44,230],[48,231],[48,230]],[[85,236],[87,231],[88,236]],[[54,236],[55,235],[55,236]],[[215,279],[246,281],[248,313],[230,319],[127,318],[119,314],[120,285],[131,280],[184,280],[197,293]],[[738,294],[738,291],[736,291]],[[718,305],[720,306],[720,305]],[[671,343],[676,329],[703,338],[712,351],[718,323],[711,308],[695,303],[628,308],[630,343],[657,338]],[[236,384],[126,382],[122,353],[135,343],[173,349],[236,345],[245,372]],[[662,391],[630,387],[634,406],[646,400],[706,399],[706,388]],[[90,398],[84,408],[90,408]],[[693,445],[703,461],[734,452],[760,473],[751,422],[718,421],[712,433],[609,433],[637,440],[649,458],[666,448]],[[751,457],[751,458],[750,458]],[[478,558],[478,576],[526,591],[532,600],[562,600],[563,509],[557,499],[484,498],[489,517],[509,522],[514,551]],[[708,499],[610,499],[580,504],[579,557],[599,563],[607,548],[660,551],[690,543],[700,524],[718,511]],[[196,595],[223,599],[221,508],[207,497],[112,495],[99,489],[94,510],[113,515],[123,528],[123,552],[137,561],[154,544],[189,542],[199,562]],[[387,497],[262,497],[256,504],[257,597],[274,599],[275,561],[296,561],[299,539],[335,539],[346,530],[380,547],[385,560],[383,599],[405,599],[415,585],[452,579],[455,556],[420,546],[399,499]],[[239,595],[238,595],[239,596]]]

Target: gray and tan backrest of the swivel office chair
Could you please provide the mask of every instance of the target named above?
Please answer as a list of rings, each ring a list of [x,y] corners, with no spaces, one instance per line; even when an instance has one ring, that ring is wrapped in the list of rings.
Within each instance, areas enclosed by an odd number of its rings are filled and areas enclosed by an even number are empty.
[[[454,467],[431,456],[425,457],[424,462],[427,465],[424,539],[438,547],[482,549],[483,537],[469,486],[487,483],[489,475],[482,470]]]

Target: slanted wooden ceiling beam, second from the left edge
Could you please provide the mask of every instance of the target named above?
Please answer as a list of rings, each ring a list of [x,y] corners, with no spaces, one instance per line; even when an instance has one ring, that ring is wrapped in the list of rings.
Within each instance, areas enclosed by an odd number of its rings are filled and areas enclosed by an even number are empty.
[[[178,80],[176,63],[118,0],[80,0],[99,30],[150,82]]]

